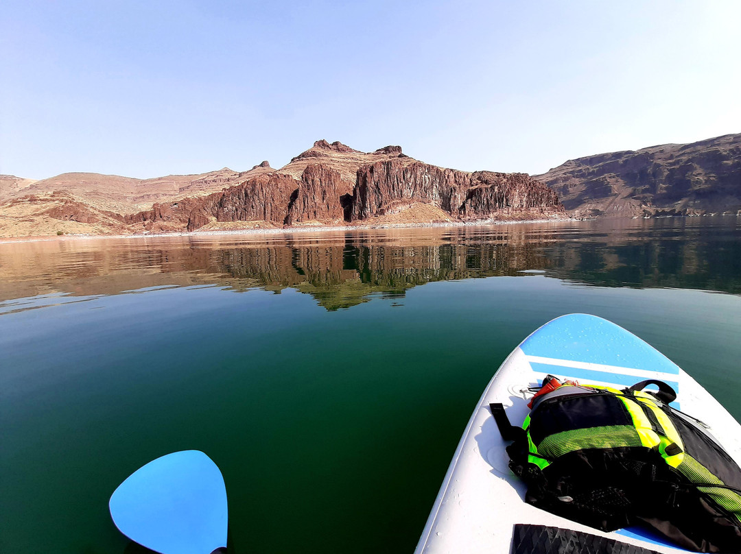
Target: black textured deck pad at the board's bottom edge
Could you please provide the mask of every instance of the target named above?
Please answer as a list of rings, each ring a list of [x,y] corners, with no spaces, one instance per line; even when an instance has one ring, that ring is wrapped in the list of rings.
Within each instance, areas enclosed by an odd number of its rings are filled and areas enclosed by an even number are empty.
[[[658,554],[655,550],[611,538],[546,527],[515,524],[512,554]]]

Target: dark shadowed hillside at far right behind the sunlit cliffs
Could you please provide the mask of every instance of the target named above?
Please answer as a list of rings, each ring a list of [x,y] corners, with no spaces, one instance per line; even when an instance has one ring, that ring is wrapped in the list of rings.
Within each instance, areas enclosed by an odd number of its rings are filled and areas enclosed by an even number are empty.
[[[535,176],[575,216],[739,213],[741,134],[569,160]]]

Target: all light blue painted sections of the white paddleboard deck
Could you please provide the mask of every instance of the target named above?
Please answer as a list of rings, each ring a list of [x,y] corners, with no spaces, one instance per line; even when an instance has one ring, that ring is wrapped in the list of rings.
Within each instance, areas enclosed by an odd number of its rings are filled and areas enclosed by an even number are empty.
[[[677,364],[633,333],[597,316],[576,313],[556,318],[526,338],[520,344],[520,349],[528,356],[665,373],[666,378],[662,377],[661,380],[679,393]],[[529,363],[538,373],[551,373],[557,377],[573,378],[585,383],[599,381],[630,387],[643,380],[634,375],[618,373],[617,370],[607,372],[536,361]],[[679,408],[676,401],[671,405]],[[621,529],[616,533],[639,538],[649,544],[677,548],[671,541],[642,527]]]

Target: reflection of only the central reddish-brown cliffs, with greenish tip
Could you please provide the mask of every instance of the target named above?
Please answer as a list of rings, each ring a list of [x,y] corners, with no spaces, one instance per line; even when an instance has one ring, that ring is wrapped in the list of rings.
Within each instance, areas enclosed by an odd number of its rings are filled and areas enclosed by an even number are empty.
[[[516,275],[546,263],[535,244],[439,244],[265,247],[218,250],[208,273],[235,290],[293,287],[328,310],[354,306],[371,294],[391,298],[431,281]]]

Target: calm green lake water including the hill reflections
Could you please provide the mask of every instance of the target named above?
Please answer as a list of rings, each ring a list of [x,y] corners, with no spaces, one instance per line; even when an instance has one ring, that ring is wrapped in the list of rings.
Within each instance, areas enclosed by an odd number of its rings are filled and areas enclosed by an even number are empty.
[[[741,219],[0,244],[0,551],[136,551],[118,484],[199,449],[231,553],[411,553],[485,384],[593,313],[741,417]]]

